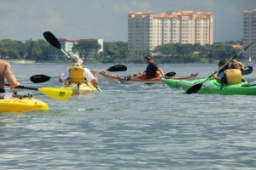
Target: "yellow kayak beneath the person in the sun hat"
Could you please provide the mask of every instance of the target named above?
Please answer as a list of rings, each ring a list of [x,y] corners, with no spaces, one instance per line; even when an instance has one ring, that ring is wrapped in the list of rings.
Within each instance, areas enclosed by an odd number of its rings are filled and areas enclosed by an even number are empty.
[[[71,82],[63,86],[63,88],[69,88],[73,90],[73,94],[89,94],[90,92],[96,91],[96,88],[93,85],[87,84],[85,82],[82,82],[82,83]]]

